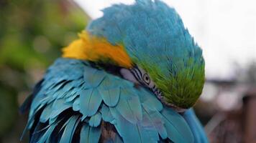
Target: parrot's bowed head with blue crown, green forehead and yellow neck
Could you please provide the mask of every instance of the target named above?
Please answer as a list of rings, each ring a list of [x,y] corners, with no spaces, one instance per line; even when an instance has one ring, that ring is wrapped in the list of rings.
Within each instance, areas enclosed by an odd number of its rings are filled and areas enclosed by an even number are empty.
[[[103,12],[81,41],[64,49],[64,56],[82,50],[80,59],[111,61],[129,69],[164,104],[178,110],[192,107],[204,87],[204,58],[175,9],[162,1],[137,0]]]

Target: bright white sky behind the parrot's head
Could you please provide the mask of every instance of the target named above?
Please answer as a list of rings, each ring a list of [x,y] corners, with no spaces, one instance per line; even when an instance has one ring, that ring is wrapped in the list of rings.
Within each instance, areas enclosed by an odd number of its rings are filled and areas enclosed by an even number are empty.
[[[111,4],[133,0],[74,0],[93,19]],[[206,77],[234,76],[234,63],[256,60],[255,0],[163,0],[180,14],[185,26],[204,50]]]

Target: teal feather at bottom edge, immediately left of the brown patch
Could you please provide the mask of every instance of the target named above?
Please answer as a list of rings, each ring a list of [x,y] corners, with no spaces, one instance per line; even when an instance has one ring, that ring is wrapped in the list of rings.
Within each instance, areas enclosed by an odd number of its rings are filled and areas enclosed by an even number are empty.
[[[101,136],[101,130],[99,127],[90,127],[88,124],[83,124],[80,134],[80,142],[93,143],[99,142]]]

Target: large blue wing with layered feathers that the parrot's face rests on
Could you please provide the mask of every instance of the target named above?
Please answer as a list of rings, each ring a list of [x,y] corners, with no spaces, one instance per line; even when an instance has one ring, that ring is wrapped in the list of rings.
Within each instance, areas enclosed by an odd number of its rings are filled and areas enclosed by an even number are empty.
[[[99,142],[103,122],[118,132],[114,142],[193,142],[186,120],[154,94],[86,61],[56,60],[36,90],[30,142]]]

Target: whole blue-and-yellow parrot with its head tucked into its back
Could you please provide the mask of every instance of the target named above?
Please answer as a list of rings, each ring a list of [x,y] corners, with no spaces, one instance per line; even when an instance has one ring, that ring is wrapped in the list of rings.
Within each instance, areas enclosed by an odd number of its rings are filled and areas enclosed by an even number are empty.
[[[202,49],[160,0],[113,4],[35,84],[30,143],[208,142],[193,105],[204,87]],[[21,137],[21,138],[22,138]]]

